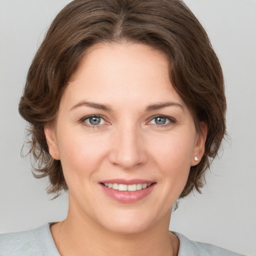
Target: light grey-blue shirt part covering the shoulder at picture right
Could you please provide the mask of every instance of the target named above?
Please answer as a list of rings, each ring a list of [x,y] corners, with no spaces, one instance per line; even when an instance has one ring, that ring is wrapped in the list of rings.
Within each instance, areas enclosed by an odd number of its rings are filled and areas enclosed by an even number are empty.
[[[189,240],[177,232],[173,233],[179,239],[178,256],[244,256],[210,243]]]

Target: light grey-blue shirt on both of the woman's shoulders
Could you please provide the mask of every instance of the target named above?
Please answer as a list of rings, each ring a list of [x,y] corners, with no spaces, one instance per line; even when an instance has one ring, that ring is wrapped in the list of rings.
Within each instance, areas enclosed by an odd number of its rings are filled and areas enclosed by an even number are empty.
[[[0,256],[60,256],[49,224],[28,231],[0,234]],[[182,234],[174,233],[179,239],[178,256],[242,256],[209,243],[191,241]]]

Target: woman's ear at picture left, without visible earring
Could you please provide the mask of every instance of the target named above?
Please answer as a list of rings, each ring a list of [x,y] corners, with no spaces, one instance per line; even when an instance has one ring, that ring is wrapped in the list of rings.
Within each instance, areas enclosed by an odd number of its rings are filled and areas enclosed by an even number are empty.
[[[44,125],[44,134],[51,157],[55,160],[59,160],[56,132],[54,130],[53,124]]]

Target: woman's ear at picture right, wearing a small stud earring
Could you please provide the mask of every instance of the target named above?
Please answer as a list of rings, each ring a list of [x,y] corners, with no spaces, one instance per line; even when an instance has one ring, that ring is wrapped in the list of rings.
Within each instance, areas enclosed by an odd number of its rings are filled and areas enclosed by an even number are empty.
[[[194,166],[197,163],[199,163],[204,153],[204,144],[207,136],[207,123],[205,121],[200,121],[199,126],[200,132],[197,132],[197,136],[195,139],[195,145],[190,164],[191,166]],[[194,158],[195,156],[197,157],[197,159]]]

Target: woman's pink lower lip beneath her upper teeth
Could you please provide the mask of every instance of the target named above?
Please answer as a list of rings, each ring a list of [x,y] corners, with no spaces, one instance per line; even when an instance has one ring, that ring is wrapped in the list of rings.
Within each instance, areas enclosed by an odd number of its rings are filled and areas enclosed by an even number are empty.
[[[101,184],[101,186],[104,192],[114,200],[119,202],[131,203],[139,201],[140,199],[147,196],[153,190],[155,183],[151,184],[146,188],[142,188],[136,191],[119,191],[113,188],[108,188],[103,184]]]

